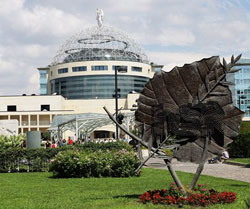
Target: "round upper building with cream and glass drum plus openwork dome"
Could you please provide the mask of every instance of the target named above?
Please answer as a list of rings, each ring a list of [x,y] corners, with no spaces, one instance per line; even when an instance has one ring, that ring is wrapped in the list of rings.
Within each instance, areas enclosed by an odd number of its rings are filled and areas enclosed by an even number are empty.
[[[126,72],[119,73],[120,68]],[[141,92],[154,73],[133,39],[112,27],[91,27],[61,46],[47,68],[47,89],[41,88],[41,93],[59,94],[67,99],[112,99],[115,70],[120,98]],[[40,75],[41,72],[44,71],[40,70]]]

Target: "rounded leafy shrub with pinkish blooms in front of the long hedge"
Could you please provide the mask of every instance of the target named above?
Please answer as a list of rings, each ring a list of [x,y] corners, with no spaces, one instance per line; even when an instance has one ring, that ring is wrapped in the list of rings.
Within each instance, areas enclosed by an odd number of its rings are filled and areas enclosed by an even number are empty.
[[[50,164],[54,177],[128,177],[133,176],[140,161],[134,152],[73,151],[60,152]]]

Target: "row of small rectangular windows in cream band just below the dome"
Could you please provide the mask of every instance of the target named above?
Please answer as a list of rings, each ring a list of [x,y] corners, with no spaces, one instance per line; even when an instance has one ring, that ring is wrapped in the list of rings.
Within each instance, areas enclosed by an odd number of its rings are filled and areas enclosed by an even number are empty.
[[[118,66],[118,65],[113,65],[112,70],[117,69],[118,71],[122,69],[123,71],[127,71],[128,67],[127,66]],[[108,66],[107,65],[94,65],[91,66],[92,71],[107,71]],[[79,67],[72,67],[72,72],[81,72],[81,71],[87,71],[87,66],[79,66]],[[131,67],[131,71],[133,72],[142,72],[142,67]],[[58,74],[62,73],[68,73],[68,68],[61,68],[58,69]],[[52,75],[52,72],[51,72]]]

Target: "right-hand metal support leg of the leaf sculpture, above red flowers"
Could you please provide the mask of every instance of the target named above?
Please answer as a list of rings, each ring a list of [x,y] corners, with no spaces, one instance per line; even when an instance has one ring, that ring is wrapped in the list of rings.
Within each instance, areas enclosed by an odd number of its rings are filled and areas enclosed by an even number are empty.
[[[205,160],[206,160],[206,154],[207,154],[207,146],[208,146],[208,140],[210,138],[210,133],[208,133],[208,135],[206,136],[205,138],[205,141],[204,141],[204,148],[203,148],[203,152],[202,152],[202,158],[201,158],[201,161],[200,161],[200,164],[196,170],[196,173],[194,175],[194,178],[193,178],[193,181],[191,182],[191,184],[189,185],[189,190],[193,190],[195,184],[197,183],[200,175],[201,175],[201,172],[204,168],[204,164],[205,164]]]

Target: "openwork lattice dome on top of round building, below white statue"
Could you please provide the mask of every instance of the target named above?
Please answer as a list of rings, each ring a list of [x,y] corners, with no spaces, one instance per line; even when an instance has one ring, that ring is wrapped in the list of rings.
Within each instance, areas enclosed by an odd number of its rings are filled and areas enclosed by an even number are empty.
[[[126,34],[109,26],[94,26],[67,40],[52,65],[96,60],[149,63],[141,47]]]

